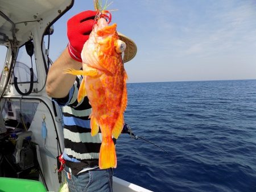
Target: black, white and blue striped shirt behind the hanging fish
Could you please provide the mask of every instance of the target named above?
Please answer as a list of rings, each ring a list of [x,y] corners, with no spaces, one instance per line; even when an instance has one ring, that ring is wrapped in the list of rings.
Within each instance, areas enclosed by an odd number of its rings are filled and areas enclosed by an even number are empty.
[[[65,98],[53,98],[62,106],[64,121],[63,158],[72,162],[98,160],[102,136],[91,136],[89,115],[92,107],[88,97],[77,102],[77,93],[82,76],[77,76],[74,85]]]

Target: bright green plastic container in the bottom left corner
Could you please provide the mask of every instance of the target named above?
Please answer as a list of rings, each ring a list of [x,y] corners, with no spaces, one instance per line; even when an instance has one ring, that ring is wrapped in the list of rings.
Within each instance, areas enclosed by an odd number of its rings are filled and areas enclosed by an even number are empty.
[[[24,180],[18,178],[0,177],[0,191],[1,192],[46,192],[43,183],[34,180]]]

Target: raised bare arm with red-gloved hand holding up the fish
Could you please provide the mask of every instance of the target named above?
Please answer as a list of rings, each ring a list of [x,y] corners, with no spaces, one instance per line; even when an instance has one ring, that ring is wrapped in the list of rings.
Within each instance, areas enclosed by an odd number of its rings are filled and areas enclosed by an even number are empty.
[[[48,72],[46,93],[49,97],[64,98],[75,82],[76,76],[64,74],[67,68],[82,68],[81,51],[94,25],[96,11],[82,11],[67,22],[68,47],[52,64]]]

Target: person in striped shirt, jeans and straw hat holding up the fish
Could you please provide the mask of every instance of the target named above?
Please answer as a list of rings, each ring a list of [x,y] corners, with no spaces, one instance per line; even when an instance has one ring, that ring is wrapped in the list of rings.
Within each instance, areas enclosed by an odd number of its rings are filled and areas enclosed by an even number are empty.
[[[77,92],[83,77],[63,73],[63,69],[82,68],[82,47],[92,31],[96,14],[96,11],[83,11],[68,20],[68,46],[52,64],[46,82],[48,96],[63,111],[64,151],[60,160],[65,163],[64,174],[70,192],[113,191],[113,169],[98,168],[102,140],[101,133],[96,136],[90,134],[89,115],[92,107],[88,97],[77,102]],[[137,47],[126,36],[120,34],[119,37],[130,45],[130,52],[128,49],[123,57],[123,61],[127,62],[133,59]]]

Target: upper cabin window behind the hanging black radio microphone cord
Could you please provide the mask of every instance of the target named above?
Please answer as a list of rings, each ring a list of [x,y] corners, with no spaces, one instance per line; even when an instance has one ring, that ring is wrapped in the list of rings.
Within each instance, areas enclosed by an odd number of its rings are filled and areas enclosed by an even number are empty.
[[[19,48],[18,56],[14,66],[14,76],[18,78],[18,83],[30,83],[30,68],[32,68],[34,72],[34,82],[38,81],[35,55],[32,55],[31,64],[31,58],[27,54],[25,45],[23,45]],[[12,82],[14,81],[14,76],[12,78]]]

